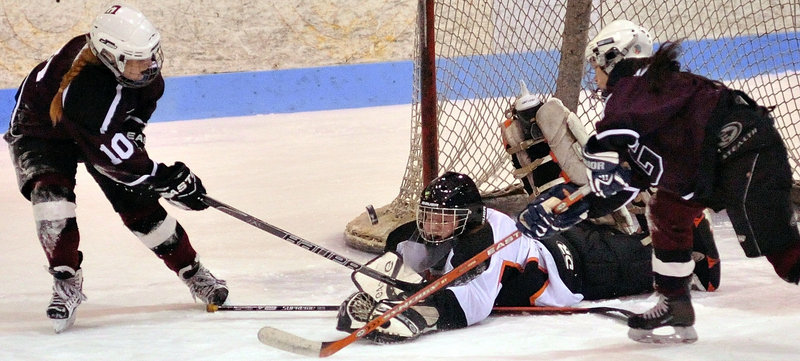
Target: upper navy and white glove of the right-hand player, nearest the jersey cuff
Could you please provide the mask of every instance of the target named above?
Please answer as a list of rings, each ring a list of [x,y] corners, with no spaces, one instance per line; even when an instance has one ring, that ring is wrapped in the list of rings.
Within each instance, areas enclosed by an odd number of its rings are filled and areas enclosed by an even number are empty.
[[[608,198],[630,188],[631,171],[620,164],[619,153],[592,152],[587,144],[583,149],[583,162],[588,168],[589,186],[597,196]]]

